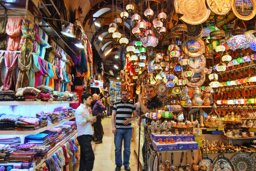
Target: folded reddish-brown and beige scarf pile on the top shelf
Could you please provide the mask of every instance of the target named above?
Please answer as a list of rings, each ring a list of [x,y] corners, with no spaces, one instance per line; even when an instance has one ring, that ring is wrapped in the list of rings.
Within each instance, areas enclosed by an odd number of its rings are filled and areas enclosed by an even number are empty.
[[[40,92],[35,87],[18,88],[14,98],[17,101],[40,101]]]

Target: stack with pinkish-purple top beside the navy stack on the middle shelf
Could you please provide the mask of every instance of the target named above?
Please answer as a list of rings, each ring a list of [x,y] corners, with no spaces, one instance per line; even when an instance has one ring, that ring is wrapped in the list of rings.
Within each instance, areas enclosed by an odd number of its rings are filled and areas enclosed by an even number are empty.
[[[18,118],[15,122],[15,130],[26,131],[26,130],[37,130],[39,126],[40,119],[32,117],[22,117]]]

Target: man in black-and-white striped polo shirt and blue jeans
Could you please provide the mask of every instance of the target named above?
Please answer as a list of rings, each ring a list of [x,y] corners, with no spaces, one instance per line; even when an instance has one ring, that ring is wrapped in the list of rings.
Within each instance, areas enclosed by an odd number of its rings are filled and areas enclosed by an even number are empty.
[[[128,101],[128,91],[123,90],[121,92],[121,101],[114,104],[112,110],[112,132],[114,134],[115,142],[115,157],[116,157],[116,169],[120,171],[122,165],[125,166],[126,171],[130,171],[129,160],[131,154],[131,137],[132,126],[131,121],[137,118],[137,111],[134,104]],[[133,114],[133,116],[131,116]],[[122,141],[124,140],[124,162],[122,163]]]

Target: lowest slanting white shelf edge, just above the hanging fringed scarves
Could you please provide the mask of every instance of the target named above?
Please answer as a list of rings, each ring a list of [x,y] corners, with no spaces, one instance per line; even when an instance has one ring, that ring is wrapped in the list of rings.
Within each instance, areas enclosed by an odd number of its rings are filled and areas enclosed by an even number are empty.
[[[43,160],[40,161],[40,163],[38,163],[38,165],[35,165],[34,163],[34,167],[33,167],[33,171],[35,171],[36,168],[38,168],[40,165],[42,165],[45,160],[47,160],[49,157],[52,156],[52,154],[54,154],[56,151],[58,151],[58,149],[64,145],[68,140],[70,140],[71,137],[73,137],[74,135],[76,135],[77,130],[74,131],[71,135],[65,137],[63,140],[61,140],[60,142],[58,142],[52,149],[50,149],[47,153],[47,158],[44,158]]]

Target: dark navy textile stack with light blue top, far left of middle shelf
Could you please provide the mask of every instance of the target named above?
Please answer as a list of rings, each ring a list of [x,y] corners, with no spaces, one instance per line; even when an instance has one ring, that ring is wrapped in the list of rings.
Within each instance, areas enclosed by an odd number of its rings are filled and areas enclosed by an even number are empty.
[[[15,130],[15,122],[22,117],[22,115],[0,114],[0,130]]]

